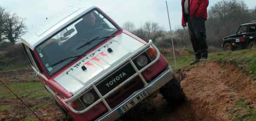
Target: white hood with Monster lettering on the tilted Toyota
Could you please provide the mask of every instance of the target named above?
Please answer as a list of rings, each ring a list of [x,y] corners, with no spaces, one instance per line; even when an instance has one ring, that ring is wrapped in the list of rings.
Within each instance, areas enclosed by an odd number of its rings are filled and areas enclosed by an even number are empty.
[[[143,46],[140,41],[126,34],[119,34],[64,70],[54,80],[70,93],[76,94],[101,76],[105,76],[105,73]],[[111,53],[108,48],[111,48]],[[82,70],[82,66],[85,66],[86,70]]]

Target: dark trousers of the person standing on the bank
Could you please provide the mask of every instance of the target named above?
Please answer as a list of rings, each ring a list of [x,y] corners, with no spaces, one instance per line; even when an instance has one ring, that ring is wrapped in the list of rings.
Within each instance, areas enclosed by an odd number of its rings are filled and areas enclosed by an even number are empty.
[[[208,57],[205,20],[202,17],[188,18],[189,35],[195,52],[195,58]]]

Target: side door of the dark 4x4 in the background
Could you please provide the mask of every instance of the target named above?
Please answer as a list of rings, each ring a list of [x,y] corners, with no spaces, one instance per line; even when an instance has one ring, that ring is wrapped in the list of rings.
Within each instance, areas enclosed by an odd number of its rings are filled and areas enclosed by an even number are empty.
[[[246,34],[247,34],[247,25],[241,25],[239,30],[236,32],[235,42],[239,47],[246,47]]]

